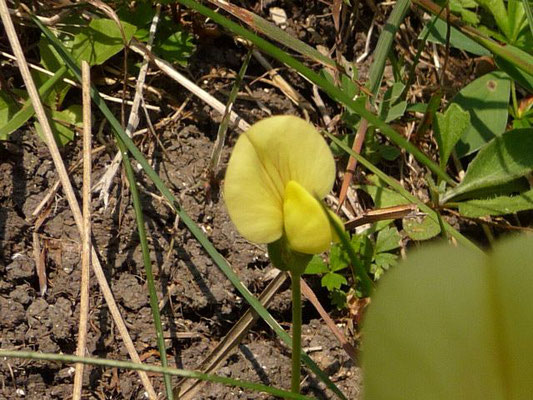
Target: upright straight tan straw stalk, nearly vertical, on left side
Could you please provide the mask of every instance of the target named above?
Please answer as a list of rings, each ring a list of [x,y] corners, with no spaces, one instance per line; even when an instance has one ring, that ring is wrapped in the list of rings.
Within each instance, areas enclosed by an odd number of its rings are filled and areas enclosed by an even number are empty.
[[[76,355],[85,356],[87,323],[89,319],[89,268],[91,265],[91,70],[86,61],[81,63],[83,104],[83,235],[81,247],[80,324]],[[76,364],[72,399],[81,400],[84,365]]]

